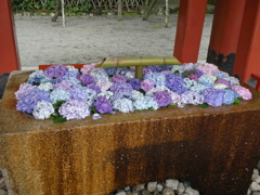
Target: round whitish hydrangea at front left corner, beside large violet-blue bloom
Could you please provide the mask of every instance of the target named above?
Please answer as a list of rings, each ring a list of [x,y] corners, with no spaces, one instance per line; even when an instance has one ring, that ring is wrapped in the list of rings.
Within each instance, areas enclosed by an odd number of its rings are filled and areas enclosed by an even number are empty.
[[[39,101],[34,107],[32,115],[36,119],[46,119],[54,113],[54,108],[50,102]]]

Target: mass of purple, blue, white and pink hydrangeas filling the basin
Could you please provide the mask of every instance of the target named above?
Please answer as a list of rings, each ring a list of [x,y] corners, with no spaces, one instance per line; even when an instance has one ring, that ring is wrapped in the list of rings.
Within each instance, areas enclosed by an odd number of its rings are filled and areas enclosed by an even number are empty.
[[[239,104],[250,100],[239,80],[213,64],[144,66],[143,79],[135,78],[135,67],[95,67],[87,64],[53,65],[29,75],[15,92],[16,109],[36,119],[63,122],[92,115],[116,112]]]

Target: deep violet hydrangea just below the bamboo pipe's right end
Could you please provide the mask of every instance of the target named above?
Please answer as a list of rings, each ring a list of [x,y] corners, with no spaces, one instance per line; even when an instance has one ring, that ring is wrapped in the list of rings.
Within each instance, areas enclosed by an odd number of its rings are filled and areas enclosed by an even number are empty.
[[[166,76],[166,87],[169,88],[171,91],[182,94],[187,89],[183,86],[183,78],[178,75],[167,75]]]

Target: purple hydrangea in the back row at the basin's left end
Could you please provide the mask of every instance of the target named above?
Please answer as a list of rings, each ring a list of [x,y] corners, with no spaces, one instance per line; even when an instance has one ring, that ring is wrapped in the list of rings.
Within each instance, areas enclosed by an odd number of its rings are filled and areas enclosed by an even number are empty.
[[[44,70],[44,74],[50,78],[65,79],[68,77],[68,68],[63,65],[50,66]]]

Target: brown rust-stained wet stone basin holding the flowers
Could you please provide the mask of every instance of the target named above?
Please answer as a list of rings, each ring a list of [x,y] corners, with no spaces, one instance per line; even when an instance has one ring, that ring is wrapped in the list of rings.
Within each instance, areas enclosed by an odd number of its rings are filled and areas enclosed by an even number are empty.
[[[105,195],[169,178],[206,195],[247,193],[260,156],[260,93],[253,89],[252,100],[239,105],[53,123],[15,109],[14,92],[29,74],[12,74],[0,103],[0,169],[14,195]]]

